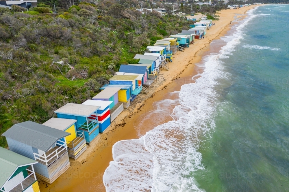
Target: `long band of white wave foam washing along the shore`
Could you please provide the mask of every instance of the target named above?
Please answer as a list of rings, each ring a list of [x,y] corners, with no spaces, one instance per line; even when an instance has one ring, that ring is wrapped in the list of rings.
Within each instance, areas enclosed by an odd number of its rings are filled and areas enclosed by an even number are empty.
[[[171,114],[174,121],[155,127],[140,139],[114,144],[114,161],[103,175],[106,191],[203,191],[189,175],[204,169],[201,153],[197,151],[198,138],[214,129],[211,119],[217,97],[214,87],[216,80],[227,78],[220,59],[229,57],[240,43],[244,36],[242,28],[255,17],[254,10],[233,27],[236,33],[221,37],[227,44],[218,54],[204,57],[205,62],[197,64],[204,71],[196,83],[181,86],[179,105]]]

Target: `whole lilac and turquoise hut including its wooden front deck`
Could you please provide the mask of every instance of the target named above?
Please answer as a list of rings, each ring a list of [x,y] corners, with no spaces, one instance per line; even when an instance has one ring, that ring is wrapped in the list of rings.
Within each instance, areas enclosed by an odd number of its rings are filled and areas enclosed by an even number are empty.
[[[118,102],[118,91],[120,89],[120,87],[107,87],[99,94],[92,97],[93,100],[112,101],[109,105],[110,114],[112,116],[110,119],[111,122],[123,111],[123,103]]]

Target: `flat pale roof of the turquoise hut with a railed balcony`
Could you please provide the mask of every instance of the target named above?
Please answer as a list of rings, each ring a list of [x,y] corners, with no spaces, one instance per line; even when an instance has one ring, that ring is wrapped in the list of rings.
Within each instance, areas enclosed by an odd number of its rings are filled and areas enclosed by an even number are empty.
[[[67,103],[65,106],[62,106],[58,110],[54,111],[55,113],[59,114],[67,114],[67,115],[75,115],[75,116],[81,116],[81,117],[89,117],[94,112],[97,111],[97,109],[100,108],[99,106],[84,106],[81,104],[76,103]]]

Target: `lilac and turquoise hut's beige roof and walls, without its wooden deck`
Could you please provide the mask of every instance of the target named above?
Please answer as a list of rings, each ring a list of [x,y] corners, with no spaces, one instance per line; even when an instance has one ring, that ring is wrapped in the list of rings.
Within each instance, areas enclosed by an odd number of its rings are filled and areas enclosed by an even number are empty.
[[[109,87],[107,89],[102,90],[100,93],[92,97],[93,100],[101,100],[101,101],[112,101],[110,104],[110,109],[112,109],[118,103],[118,91],[121,88],[119,87]]]

